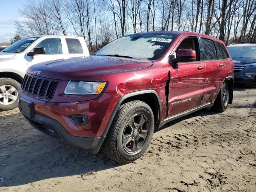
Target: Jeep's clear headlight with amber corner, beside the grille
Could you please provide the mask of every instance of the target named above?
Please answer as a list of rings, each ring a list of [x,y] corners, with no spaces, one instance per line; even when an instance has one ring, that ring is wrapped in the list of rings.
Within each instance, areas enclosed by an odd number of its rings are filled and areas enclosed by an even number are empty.
[[[105,85],[106,82],[70,81],[68,82],[64,93],[72,95],[99,94],[102,92]]]

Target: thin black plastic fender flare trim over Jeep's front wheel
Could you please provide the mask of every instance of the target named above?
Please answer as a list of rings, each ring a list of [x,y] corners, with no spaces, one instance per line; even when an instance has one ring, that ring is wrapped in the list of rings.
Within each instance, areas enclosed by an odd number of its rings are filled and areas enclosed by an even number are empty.
[[[137,95],[142,95],[142,94],[148,94],[148,93],[151,93],[151,94],[154,94],[158,100],[158,107],[159,107],[159,120],[161,120],[161,116],[162,116],[162,107],[161,107],[161,102],[160,102],[160,99],[159,99],[159,96],[157,94],[157,92],[155,90],[152,90],[152,89],[148,89],[148,90],[142,90],[142,91],[136,91],[136,92],[131,92],[131,93],[128,93],[128,94],[125,94],[124,96],[122,96],[120,98],[120,100],[118,101],[118,103],[116,104],[116,107],[114,108],[114,111],[112,112],[112,115],[110,117],[110,120],[108,121],[108,124],[102,134],[102,137],[105,137],[108,133],[108,130],[112,124],[112,121],[114,120],[114,117],[118,111],[118,108],[119,106],[122,104],[122,102],[130,97],[133,97],[133,96],[137,96]]]

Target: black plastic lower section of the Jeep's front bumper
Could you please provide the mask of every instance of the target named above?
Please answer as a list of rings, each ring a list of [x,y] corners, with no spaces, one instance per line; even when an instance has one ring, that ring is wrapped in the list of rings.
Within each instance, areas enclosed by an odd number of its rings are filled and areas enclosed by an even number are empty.
[[[92,154],[96,154],[99,152],[100,147],[105,139],[105,137],[86,138],[72,136],[56,120],[46,118],[38,114],[34,114],[33,118],[29,118],[27,116],[25,117],[28,120],[28,122],[40,132],[52,136],[54,138],[63,140],[64,142],[72,146],[83,148]]]

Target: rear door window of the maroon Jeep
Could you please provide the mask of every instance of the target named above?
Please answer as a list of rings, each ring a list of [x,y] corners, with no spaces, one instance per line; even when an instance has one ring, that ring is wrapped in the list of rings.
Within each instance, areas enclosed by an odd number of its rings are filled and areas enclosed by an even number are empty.
[[[217,60],[217,52],[213,40],[202,38],[204,60]]]

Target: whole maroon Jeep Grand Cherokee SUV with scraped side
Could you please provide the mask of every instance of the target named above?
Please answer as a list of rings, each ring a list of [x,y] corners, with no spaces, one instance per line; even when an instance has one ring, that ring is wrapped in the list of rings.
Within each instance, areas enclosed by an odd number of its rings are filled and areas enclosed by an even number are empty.
[[[154,130],[202,108],[224,112],[234,63],[222,41],[194,32],[146,32],[88,57],[28,68],[19,108],[37,130],[121,164],[146,151]]]

